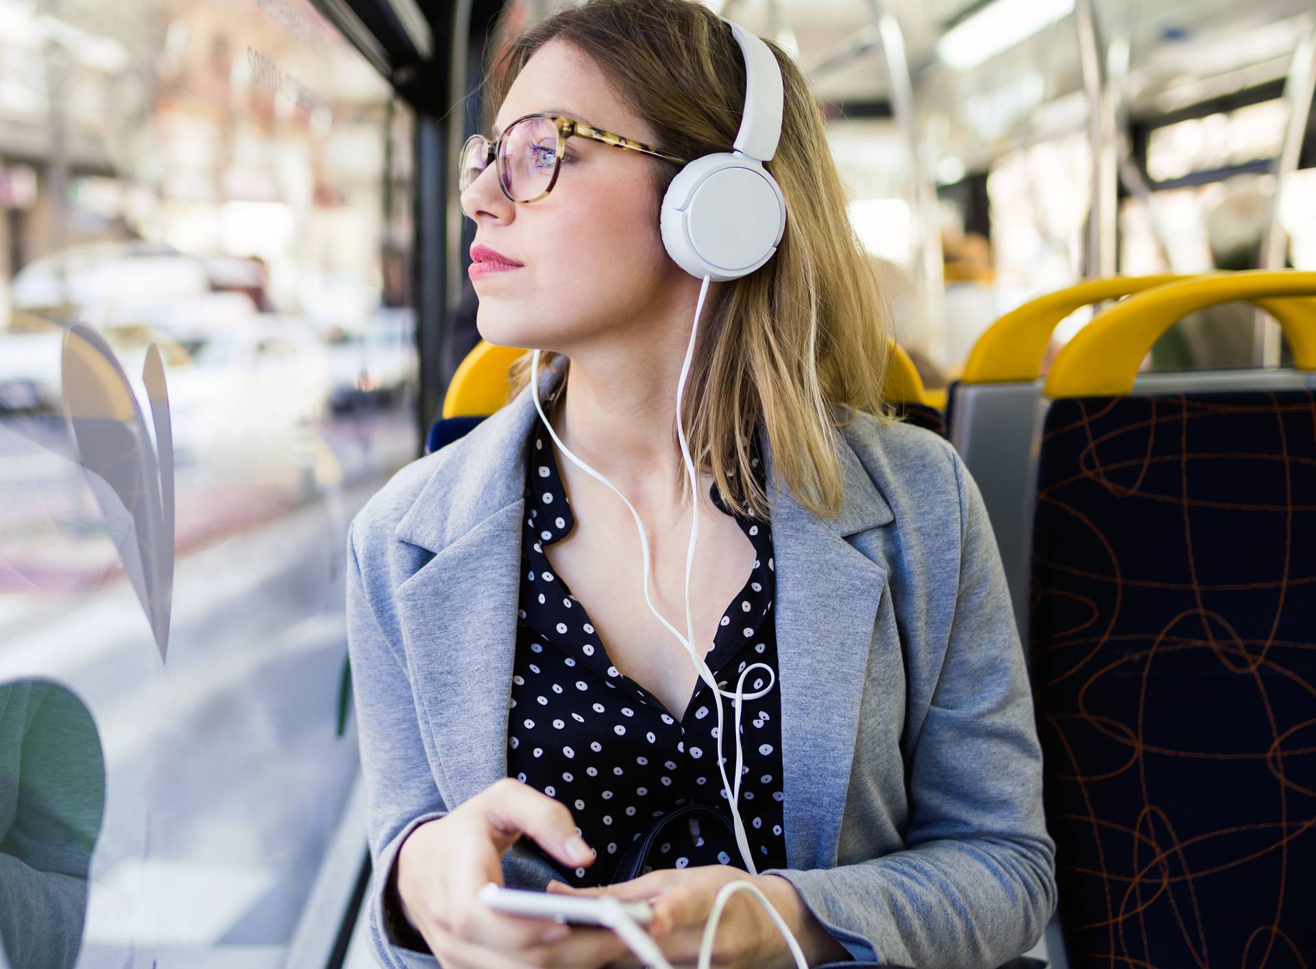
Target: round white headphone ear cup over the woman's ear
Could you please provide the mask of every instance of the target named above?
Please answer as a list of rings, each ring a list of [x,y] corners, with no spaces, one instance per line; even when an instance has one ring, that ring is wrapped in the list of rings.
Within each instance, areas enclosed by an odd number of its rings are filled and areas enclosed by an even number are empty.
[[[738,279],[776,251],[786,232],[786,200],[753,158],[703,155],[671,180],[659,228],[667,254],[692,276]]]

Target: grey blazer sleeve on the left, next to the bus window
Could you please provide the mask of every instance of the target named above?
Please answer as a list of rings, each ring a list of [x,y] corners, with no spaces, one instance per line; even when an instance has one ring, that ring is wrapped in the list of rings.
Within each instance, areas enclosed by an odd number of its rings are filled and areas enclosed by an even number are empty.
[[[372,862],[370,937],[382,965],[432,969],[438,961],[401,912],[393,868],[407,836],[447,810],[425,756],[405,654],[392,621],[387,569],[380,563],[372,570],[367,549],[363,570],[355,524],[347,528],[347,656]]]

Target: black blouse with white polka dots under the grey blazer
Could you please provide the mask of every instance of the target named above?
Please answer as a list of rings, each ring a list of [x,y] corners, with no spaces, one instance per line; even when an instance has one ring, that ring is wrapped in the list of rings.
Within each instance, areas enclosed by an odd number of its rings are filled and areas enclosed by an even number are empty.
[[[716,761],[717,699],[699,679],[686,708],[669,711],[612,665],[584,604],[553,573],[544,553],[546,545],[570,535],[574,519],[558,475],[553,438],[542,421],[536,421],[533,433],[526,462],[528,515],[508,715],[508,774],[566,804],[580,835],[595,849],[597,860],[588,869],[563,869],[545,854],[561,879],[576,886],[607,885],[628,845],[667,811],[701,803],[730,819]],[[757,454],[754,467],[763,481]],[[742,686],[746,694],[772,689],[759,699],[745,700],[741,712],[745,762],[740,812],[755,866],[786,868],[771,529],[766,521],[749,517],[745,508],[733,512],[716,484],[709,498],[719,511],[736,519],[754,544],[757,558],[745,586],[722,614],[704,661],[719,685],[732,691],[745,668],[766,664],[772,670],[750,670]],[[721,702],[730,733],[734,704],[729,698]],[[734,782],[734,740],[726,740],[722,756],[726,777]],[[729,835],[713,836],[707,825],[704,835],[697,825],[674,828],[654,845],[655,866],[745,868]]]

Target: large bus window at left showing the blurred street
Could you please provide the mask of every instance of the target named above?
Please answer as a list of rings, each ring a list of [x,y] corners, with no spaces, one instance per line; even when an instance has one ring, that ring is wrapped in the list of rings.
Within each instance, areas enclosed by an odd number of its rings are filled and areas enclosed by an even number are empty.
[[[0,885],[13,965],[282,964],[357,772],[346,523],[418,453],[412,126],[308,0],[0,0],[0,685],[105,778],[78,918]]]

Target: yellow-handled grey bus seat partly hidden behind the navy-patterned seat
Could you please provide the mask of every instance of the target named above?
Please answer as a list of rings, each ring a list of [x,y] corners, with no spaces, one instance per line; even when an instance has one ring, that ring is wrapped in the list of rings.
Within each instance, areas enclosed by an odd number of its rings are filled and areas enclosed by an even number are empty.
[[[1228,275],[1228,274],[1227,274]],[[973,474],[996,533],[1020,636],[1028,641],[1028,524],[1041,371],[1051,332],[1074,311],[1195,279],[1184,275],[1088,279],[1001,316],[974,345],[948,404],[950,442]],[[1267,303],[1275,313],[1294,312]]]

